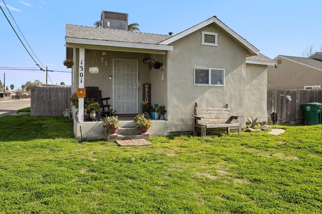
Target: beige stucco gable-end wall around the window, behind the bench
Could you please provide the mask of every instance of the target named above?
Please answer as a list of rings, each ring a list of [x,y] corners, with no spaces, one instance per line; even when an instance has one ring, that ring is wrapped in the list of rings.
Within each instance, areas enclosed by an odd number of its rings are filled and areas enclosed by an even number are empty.
[[[218,46],[201,45],[201,31],[218,33]],[[168,132],[193,130],[194,104],[224,108],[245,116],[246,54],[215,24],[206,26],[172,43],[168,52]],[[194,68],[225,69],[224,86],[194,85]],[[245,127],[245,117],[239,119]]]

